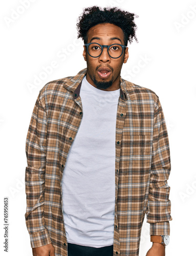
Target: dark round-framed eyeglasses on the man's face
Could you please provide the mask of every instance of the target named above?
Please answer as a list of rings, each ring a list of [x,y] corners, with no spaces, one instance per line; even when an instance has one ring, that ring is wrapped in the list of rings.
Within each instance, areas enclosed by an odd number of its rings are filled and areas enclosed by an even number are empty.
[[[93,57],[93,58],[97,58],[101,55],[101,53],[103,52],[103,48],[107,48],[107,53],[111,58],[117,59],[119,58],[122,53],[123,50],[127,47],[127,46],[123,46],[120,44],[112,44],[110,46],[102,46],[100,44],[98,44],[97,42],[90,42],[89,44],[84,44],[88,54]]]

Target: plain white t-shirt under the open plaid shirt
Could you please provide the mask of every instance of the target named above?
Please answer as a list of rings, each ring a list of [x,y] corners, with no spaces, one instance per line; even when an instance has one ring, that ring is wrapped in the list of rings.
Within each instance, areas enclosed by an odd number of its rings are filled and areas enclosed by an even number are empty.
[[[69,243],[113,244],[115,137],[120,89],[102,91],[82,80],[83,117],[62,177],[64,225]]]

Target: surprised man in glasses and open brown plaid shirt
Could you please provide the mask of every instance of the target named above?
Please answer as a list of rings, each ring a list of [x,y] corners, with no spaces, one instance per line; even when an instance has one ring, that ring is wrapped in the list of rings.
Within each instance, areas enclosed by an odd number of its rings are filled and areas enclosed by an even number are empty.
[[[79,18],[87,69],[38,95],[27,136],[26,223],[34,256],[139,255],[147,214],[165,255],[170,173],[159,97],[121,78],[135,15],[86,8]]]

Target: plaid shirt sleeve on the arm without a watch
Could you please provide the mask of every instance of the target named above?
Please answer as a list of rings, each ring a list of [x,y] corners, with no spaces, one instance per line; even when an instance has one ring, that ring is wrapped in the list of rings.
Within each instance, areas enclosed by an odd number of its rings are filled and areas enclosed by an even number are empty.
[[[39,96],[36,100],[26,139],[25,174],[27,210],[25,214],[31,247],[51,243],[43,215],[47,145],[47,113]]]

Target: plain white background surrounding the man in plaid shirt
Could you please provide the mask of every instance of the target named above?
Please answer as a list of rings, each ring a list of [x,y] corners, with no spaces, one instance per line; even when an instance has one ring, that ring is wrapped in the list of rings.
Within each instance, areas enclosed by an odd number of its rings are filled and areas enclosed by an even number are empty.
[[[0,253],[32,255],[25,224],[24,185],[25,140],[31,114],[39,90],[47,82],[76,75],[86,67],[76,23],[84,7],[97,4],[139,15],[139,43],[128,45],[129,59],[121,75],[155,91],[160,98],[172,165],[168,184],[173,220],[166,255],[195,255],[196,1],[190,0],[1,1]],[[53,69],[49,68],[51,62]],[[50,74],[44,71],[46,67]],[[9,197],[8,253],[3,248],[4,197]],[[144,221],[140,256],[150,246],[149,224]]]

